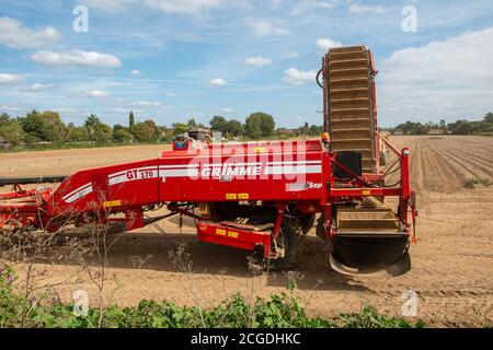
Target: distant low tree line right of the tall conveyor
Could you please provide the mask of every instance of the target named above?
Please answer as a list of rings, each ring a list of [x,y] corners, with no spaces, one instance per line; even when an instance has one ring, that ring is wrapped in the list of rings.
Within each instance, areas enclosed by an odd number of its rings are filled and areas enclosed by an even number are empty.
[[[402,132],[404,135],[426,135],[431,130],[440,129],[444,133],[451,135],[491,135],[493,133],[493,113],[488,113],[482,120],[470,121],[460,119],[447,124],[445,119],[438,124],[428,121],[426,124],[406,121],[389,130],[392,132]]]

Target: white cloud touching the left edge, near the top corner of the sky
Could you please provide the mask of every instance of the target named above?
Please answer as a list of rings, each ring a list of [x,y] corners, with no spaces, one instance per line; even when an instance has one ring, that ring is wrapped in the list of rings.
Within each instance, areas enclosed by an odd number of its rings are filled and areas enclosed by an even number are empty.
[[[0,44],[11,48],[38,48],[60,38],[50,26],[33,31],[11,18],[0,18]]]

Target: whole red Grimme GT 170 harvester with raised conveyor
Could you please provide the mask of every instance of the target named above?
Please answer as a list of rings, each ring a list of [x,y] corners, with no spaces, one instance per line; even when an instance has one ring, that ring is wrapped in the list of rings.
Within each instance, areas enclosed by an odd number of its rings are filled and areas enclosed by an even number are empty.
[[[415,224],[410,151],[378,135],[376,73],[363,46],[324,57],[322,140],[179,140],[158,159],[80,171],[60,177],[56,188],[22,189],[28,179],[0,179],[14,186],[0,194],[0,229],[27,234],[123,222],[133,231],[152,222],[146,212],[165,206],[195,219],[199,241],[251,250],[270,268],[294,267],[316,226],[335,270],[402,275]],[[385,170],[381,142],[395,153]]]

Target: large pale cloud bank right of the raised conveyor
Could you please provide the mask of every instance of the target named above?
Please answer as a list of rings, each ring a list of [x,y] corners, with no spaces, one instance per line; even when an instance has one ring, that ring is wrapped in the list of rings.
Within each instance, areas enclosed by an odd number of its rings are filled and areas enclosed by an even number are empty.
[[[493,27],[394,51],[377,81],[383,121],[481,117],[493,101]]]

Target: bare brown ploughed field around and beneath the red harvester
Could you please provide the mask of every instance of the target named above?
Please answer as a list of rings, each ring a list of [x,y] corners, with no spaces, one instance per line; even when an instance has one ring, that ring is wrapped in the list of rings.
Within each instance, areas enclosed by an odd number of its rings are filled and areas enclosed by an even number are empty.
[[[329,267],[326,248],[310,233],[300,273],[299,294],[312,315],[355,312],[364,304],[399,316],[402,293],[419,294],[417,318],[431,326],[483,326],[493,323],[493,186],[466,188],[468,179],[493,180],[493,138],[393,137],[391,142],[412,150],[412,184],[419,194],[419,243],[411,248],[412,270],[402,277],[351,278]],[[64,150],[0,154],[0,176],[70,174],[81,168],[159,156],[162,145]],[[8,190],[8,188],[0,188]],[[198,190],[198,189],[197,189]],[[198,243],[185,221],[176,219],[123,236],[110,254],[106,303],[135,305],[141,299],[171,300],[208,306],[237,292],[267,295],[285,290],[286,276],[252,278],[246,254]],[[184,243],[193,261],[185,273],[170,259],[176,242]],[[142,266],[138,258],[146,259]],[[93,283],[77,266],[36,266],[60,298],[84,289],[91,301]],[[78,280],[79,279],[79,280]]]

